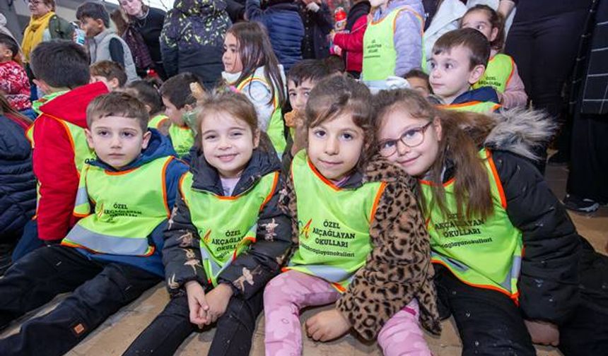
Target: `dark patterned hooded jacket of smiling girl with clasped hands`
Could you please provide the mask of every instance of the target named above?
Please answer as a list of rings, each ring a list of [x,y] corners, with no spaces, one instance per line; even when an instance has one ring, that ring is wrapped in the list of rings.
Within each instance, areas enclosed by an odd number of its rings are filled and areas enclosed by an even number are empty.
[[[276,158],[274,150],[265,152],[259,148],[255,149],[232,196],[252,189],[264,175],[280,170],[281,162]],[[218,171],[209,165],[201,152],[194,154],[190,172],[194,176],[192,189],[218,196],[224,195]],[[286,251],[291,246],[289,218],[278,208],[282,185],[280,178],[274,194],[259,212],[256,242],[218,275],[218,283],[228,283],[233,287],[235,295],[243,299],[248,299],[263,289],[264,285],[279,273]],[[189,208],[180,194],[165,231],[163,249],[165,277],[170,294],[181,295],[185,292],[183,285],[190,280],[196,280],[206,290],[212,287],[201,265],[200,241],[201,237],[192,223]],[[247,283],[244,283],[245,281]]]

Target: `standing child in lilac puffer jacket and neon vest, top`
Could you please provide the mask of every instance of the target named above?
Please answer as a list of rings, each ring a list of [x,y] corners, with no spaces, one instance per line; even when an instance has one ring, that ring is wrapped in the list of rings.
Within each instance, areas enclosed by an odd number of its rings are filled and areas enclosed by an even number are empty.
[[[390,76],[402,77],[414,68],[425,68],[422,1],[371,0],[370,4],[375,11],[363,35],[363,81],[385,81]]]

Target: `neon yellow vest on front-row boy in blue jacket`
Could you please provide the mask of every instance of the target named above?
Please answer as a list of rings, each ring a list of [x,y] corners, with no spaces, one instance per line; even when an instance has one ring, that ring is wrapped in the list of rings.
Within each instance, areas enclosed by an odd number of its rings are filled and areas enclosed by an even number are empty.
[[[153,160],[134,170],[109,172],[83,168],[74,215],[83,217],[62,245],[103,254],[149,256],[148,235],[170,215],[165,172],[173,157]],[[95,204],[91,213],[90,201]]]

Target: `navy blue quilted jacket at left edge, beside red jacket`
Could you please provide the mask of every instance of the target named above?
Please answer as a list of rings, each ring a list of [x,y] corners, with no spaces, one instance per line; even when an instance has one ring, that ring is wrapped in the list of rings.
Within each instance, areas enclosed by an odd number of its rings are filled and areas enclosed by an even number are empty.
[[[18,124],[0,116],[0,243],[21,236],[35,209],[32,147]]]

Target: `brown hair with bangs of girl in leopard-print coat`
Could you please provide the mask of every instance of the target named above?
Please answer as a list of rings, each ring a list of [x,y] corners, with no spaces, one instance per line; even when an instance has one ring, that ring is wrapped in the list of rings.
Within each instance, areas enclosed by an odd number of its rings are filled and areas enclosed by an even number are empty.
[[[312,129],[325,121],[331,121],[342,114],[349,114],[356,126],[363,130],[363,153],[358,167],[366,164],[373,147],[372,95],[366,85],[346,75],[325,78],[310,91],[306,103],[306,129]]]

